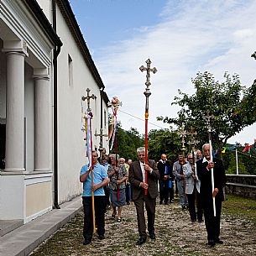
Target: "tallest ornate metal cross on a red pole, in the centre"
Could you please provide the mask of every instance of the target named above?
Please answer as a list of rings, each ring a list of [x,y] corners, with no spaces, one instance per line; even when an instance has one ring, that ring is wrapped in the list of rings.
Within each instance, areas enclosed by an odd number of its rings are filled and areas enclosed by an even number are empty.
[[[157,69],[154,68],[150,68],[150,64],[151,64],[151,60],[147,60],[147,67],[144,67],[144,65],[142,65],[139,70],[140,71],[147,71],[147,75],[146,75],[146,91],[144,91],[144,96],[146,97],[146,106],[145,106],[145,165],[148,165],[148,123],[149,123],[149,96],[151,95],[149,86],[151,85],[150,83],[150,72],[153,72],[153,74],[155,74],[157,72]],[[148,184],[148,172],[145,171],[145,183]],[[148,190],[144,191],[144,195],[146,196],[148,194]]]

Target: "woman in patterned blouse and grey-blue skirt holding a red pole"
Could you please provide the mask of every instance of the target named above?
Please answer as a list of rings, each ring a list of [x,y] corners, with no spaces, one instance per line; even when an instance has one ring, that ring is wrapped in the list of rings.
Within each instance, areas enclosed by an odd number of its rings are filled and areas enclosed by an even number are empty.
[[[109,177],[110,198],[112,201],[112,219],[117,215],[118,207],[118,222],[121,222],[122,206],[125,205],[125,180],[128,179],[128,171],[125,165],[118,165],[116,167],[116,156],[111,155],[111,165],[108,166],[107,171]]]

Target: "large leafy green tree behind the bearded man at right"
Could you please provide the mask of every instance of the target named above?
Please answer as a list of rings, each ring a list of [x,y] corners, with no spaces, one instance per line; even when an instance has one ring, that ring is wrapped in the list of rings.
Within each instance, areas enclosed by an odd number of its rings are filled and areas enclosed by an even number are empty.
[[[193,127],[197,132],[196,139],[207,142],[204,117],[209,113],[214,116],[211,120],[212,144],[221,149],[228,138],[256,121],[256,83],[247,89],[241,85],[238,75],[230,76],[227,72],[224,79],[223,82],[216,81],[207,71],[197,73],[192,79],[196,92],[189,96],[178,90],[180,97],[175,97],[172,102],[181,107],[178,118],[159,117],[158,120],[178,127],[183,124],[186,130]]]

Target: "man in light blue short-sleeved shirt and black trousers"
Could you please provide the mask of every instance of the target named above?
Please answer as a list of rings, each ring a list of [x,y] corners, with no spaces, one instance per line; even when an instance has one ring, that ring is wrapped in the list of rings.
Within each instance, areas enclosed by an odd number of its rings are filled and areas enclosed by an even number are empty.
[[[94,192],[94,208],[95,208],[95,220],[97,224],[97,234],[102,240],[105,234],[105,193],[103,186],[109,183],[107,177],[107,170],[99,165],[97,161],[98,155],[97,151],[92,151],[92,163],[94,168],[92,170],[93,174],[93,186],[91,187],[91,173],[88,169],[88,165],[84,165],[80,172],[80,181],[83,182],[83,195],[82,203],[84,206],[84,230],[83,236],[85,238],[84,245],[91,243],[92,238],[92,205],[91,205],[91,191]]]

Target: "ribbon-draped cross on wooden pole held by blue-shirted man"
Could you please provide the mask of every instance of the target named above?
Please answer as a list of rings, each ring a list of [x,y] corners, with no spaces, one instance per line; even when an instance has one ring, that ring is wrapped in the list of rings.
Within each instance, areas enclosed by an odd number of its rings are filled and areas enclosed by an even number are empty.
[[[87,115],[90,114],[91,112],[91,106],[90,106],[90,100],[94,100],[96,99],[96,96],[94,94],[91,94],[90,95],[90,89],[87,88],[86,89],[86,92],[87,92],[87,95],[86,97],[81,97],[81,100],[82,101],[87,101]],[[92,115],[91,115],[91,118],[92,118]],[[90,120],[91,120],[90,118]],[[87,131],[90,131],[91,133],[91,127],[89,128],[89,125],[91,126],[91,122],[90,124],[88,123],[88,128],[87,128]],[[88,141],[90,138],[90,141]],[[91,134],[89,134],[89,136],[86,136],[86,144],[91,144],[90,147],[87,147],[89,149],[91,149],[91,152],[87,152],[87,157],[90,159],[91,158],[91,189],[94,185],[94,182],[93,182],[93,167],[94,167],[94,163],[93,163],[93,157],[92,157],[92,139],[91,139]],[[87,150],[88,151],[88,150]],[[91,154],[91,155],[89,155]],[[90,162],[89,162],[89,165],[90,165]],[[94,206],[94,191],[91,191],[91,211],[92,211],[92,225],[93,225],[93,232],[96,233],[96,221],[95,221],[95,206]]]

